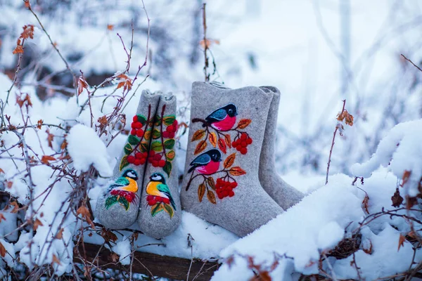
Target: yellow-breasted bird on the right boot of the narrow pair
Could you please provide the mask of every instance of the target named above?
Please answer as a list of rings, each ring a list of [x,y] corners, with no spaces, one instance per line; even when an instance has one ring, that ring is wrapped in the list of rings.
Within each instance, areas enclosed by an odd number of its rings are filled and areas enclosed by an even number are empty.
[[[163,202],[165,204],[172,204],[175,210],[176,204],[174,204],[170,188],[165,184],[164,176],[154,173],[150,176],[150,180],[146,185],[146,194],[148,194],[146,201],[148,201],[148,205],[153,206],[157,202]]]

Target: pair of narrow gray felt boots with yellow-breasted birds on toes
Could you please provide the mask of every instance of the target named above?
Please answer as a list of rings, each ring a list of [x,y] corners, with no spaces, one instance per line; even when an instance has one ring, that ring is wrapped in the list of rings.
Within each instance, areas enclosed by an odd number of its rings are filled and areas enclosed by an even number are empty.
[[[176,130],[176,97],[143,91],[115,178],[97,200],[103,226],[122,229],[137,221],[155,238],[176,230],[181,221]]]

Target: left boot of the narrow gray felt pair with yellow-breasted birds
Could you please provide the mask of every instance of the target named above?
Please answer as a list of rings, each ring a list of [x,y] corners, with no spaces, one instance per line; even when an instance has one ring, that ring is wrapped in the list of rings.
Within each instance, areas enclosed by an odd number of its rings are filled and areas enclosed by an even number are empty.
[[[127,228],[136,221],[151,127],[159,100],[159,95],[142,91],[127,143],[114,169],[115,178],[98,197],[96,215],[106,228]]]

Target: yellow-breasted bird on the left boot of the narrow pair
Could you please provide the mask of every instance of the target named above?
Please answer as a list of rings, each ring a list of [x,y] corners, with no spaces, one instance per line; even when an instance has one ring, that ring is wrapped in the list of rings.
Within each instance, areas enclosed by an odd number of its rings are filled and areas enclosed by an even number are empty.
[[[106,200],[106,209],[110,208],[115,202],[120,202],[120,197],[124,197],[127,202],[132,203],[134,198],[136,197],[136,192],[138,191],[138,174],[136,171],[132,169],[127,169],[123,172],[122,176],[115,180],[115,183],[110,185],[108,190],[110,191],[110,195],[116,195],[117,198],[113,202],[109,202]],[[125,209],[129,209],[128,203],[124,204]],[[122,204],[120,202],[120,204]]]

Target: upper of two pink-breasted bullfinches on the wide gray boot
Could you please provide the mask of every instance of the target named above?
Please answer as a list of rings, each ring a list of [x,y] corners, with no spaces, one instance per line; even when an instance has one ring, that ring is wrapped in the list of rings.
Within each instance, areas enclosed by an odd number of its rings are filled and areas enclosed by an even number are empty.
[[[205,118],[207,126],[209,124],[214,129],[219,131],[229,131],[233,128],[236,123],[236,116],[238,115],[237,107],[233,103],[229,103],[224,107],[220,107],[218,110],[213,111],[210,115]]]

